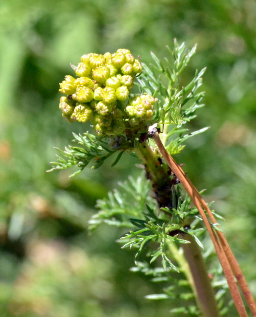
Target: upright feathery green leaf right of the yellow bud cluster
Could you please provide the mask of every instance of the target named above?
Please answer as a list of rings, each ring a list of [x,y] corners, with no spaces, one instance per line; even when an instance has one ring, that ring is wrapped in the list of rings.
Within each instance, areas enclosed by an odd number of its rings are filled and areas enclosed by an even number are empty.
[[[152,94],[158,99],[153,121],[165,126],[164,143],[170,139],[165,144],[166,150],[170,154],[177,154],[185,147],[185,141],[208,129],[205,127],[187,133],[188,129],[184,128],[187,122],[196,117],[196,110],[204,106],[201,102],[205,93],[198,90],[206,68],[196,71],[193,79],[183,87],[180,83],[181,74],[196,53],[196,46],[186,52],[185,44],[179,46],[174,40],[174,49],[167,47],[167,50],[170,58],[164,58],[163,61],[151,52],[154,63],[149,66],[143,63],[144,71],[138,78],[138,86],[142,92]],[[173,138],[175,134],[178,134],[176,139]]]

